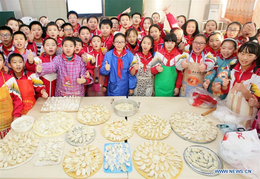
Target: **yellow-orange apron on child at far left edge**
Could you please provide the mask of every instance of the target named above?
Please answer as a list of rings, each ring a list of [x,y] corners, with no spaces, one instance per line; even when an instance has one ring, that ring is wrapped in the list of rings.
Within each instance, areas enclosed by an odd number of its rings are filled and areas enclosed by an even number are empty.
[[[3,72],[1,72],[3,76]],[[5,83],[5,78],[3,77]],[[13,100],[10,96],[8,86],[0,87],[0,138],[4,138],[8,131],[11,129],[13,122]]]

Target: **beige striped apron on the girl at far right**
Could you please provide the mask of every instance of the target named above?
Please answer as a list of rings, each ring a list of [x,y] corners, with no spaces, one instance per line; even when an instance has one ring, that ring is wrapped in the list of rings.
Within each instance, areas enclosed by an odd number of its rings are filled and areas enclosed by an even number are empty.
[[[250,92],[250,88],[252,86],[252,81],[255,78],[256,74],[252,74],[250,82],[248,85],[244,85],[245,88]],[[229,109],[237,114],[244,114],[249,115],[252,118],[246,121],[243,125],[246,128],[250,127],[253,123],[253,119],[257,114],[257,108],[254,106],[250,106],[249,103],[246,101],[246,98],[242,92],[238,92],[235,90],[235,87],[232,87],[231,90],[228,92],[227,99],[229,101]]]

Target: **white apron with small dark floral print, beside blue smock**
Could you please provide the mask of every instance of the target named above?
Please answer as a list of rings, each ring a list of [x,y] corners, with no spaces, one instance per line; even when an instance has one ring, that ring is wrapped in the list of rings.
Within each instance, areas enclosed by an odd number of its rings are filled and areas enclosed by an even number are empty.
[[[146,70],[143,70],[144,64],[140,57],[137,58],[139,70],[136,74],[137,82],[134,89],[134,96],[152,96],[153,93],[153,74],[151,73],[151,65],[146,64]]]

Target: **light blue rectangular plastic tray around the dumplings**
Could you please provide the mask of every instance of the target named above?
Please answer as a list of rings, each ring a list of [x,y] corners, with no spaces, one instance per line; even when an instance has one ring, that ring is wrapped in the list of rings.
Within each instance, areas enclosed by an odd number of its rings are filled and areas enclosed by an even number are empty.
[[[112,147],[114,147],[114,145],[115,144],[118,144],[118,143],[106,143],[105,145],[104,145],[104,152],[106,151],[106,146],[107,145],[110,145],[111,144],[111,146]],[[130,145],[129,145],[129,143],[122,143],[123,144],[123,149],[125,150],[126,149],[126,147],[125,147],[125,145],[124,144],[127,144],[129,147],[128,147],[128,151],[129,151],[129,154],[130,154],[130,158],[129,158],[129,163],[130,163],[130,167],[128,167],[126,164],[124,164],[125,166],[126,166],[126,169],[128,170],[128,171],[122,171],[121,169],[120,169],[120,167],[119,167],[119,171],[117,171],[117,168],[115,167],[115,165],[113,166],[114,167],[114,170],[113,170],[113,172],[111,172],[110,171],[110,169],[109,169],[109,167],[108,167],[108,169],[105,169],[104,168],[104,166],[106,165],[106,161],[105,161],[105,156],[104,156],[104,153],[103,153],[103,158],[104,158],[104,162],[103,162],[103,169],[104,169],[104,172],[106,172],[106,173],[127,173],[127,172],[131,172],[132,170],[133,170],[133,167],[132,167],[132,156],[131,156],[131,151],[130,151]],[[126,153],[124,153],[124,154],[126,154]],[[118,156],[117,156],[117,158],[116,158],[116,162],[118,162]],[[118,162],[119,163],[119,162]],[[119,164],[120,165],[120,164]]]

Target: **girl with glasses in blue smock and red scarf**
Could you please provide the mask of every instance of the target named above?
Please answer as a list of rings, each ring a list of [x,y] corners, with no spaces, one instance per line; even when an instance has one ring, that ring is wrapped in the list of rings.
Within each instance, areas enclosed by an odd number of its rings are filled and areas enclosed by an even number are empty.
[[[133,54],[124,48],[125,45],[126,36],[115,34],[112,50],[105,54],[99,70],[99,74],[108,75],[107,96],[132,95],[136,87],[136,76],[132,76],[129,70]]]

